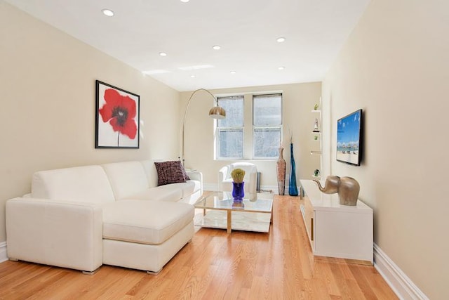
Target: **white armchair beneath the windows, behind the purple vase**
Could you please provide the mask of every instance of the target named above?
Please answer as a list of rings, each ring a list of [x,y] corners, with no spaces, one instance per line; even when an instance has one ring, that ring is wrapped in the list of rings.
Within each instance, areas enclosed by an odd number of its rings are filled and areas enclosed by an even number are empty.
[[[243,178],[245,195],[255,195],[257,193],[257,167],[250,162],[234,162],[222,167],[218,171],[218,190],[220,192],[232,192],[231,172],[234,169],[243,169],[245,171],[245,177]]]

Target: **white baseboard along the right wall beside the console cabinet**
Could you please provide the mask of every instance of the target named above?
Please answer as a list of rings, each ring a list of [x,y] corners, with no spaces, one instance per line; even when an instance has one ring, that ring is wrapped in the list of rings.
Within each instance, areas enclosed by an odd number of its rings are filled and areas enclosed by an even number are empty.
[[[374,266],[399,299],[429,300],[377,244],[374,244]]]

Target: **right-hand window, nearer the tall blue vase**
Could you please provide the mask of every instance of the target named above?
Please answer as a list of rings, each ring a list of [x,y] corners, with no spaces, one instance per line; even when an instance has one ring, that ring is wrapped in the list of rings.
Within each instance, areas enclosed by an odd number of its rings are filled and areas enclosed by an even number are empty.
[[[253,96],[253,158],[279,157],[282,94]]]

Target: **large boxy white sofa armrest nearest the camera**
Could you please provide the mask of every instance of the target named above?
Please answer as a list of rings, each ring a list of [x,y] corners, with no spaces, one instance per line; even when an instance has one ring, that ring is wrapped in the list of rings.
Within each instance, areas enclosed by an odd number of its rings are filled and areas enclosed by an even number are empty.
[[[93,272],[102,265],[98,204],[18,197],[6,202],[10,259]]]

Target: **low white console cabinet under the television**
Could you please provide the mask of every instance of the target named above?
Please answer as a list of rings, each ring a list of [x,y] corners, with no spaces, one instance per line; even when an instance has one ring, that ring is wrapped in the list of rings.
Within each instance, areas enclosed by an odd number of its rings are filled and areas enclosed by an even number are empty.
[[[340,205],[338,195],[321,193],[314,181],[301,180],[304,225],[316,256],[330,256],[373,264],[373,209],[360,200]]]

